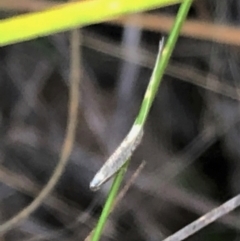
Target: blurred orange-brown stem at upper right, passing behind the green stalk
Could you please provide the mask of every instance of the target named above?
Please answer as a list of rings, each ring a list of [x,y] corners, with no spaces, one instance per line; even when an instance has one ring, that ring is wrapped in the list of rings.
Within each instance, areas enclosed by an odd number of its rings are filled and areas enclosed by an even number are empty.
[[[166,14],[141,14],[139,18],[127,16],[109,21],[112,25],[131,24],[144,30],[165,33],[170,31],[173,22],[174,16]],[[240,29],[238,27],[207,21],[187,20],[183,25],[181,36],[229,45],[240,45]]]

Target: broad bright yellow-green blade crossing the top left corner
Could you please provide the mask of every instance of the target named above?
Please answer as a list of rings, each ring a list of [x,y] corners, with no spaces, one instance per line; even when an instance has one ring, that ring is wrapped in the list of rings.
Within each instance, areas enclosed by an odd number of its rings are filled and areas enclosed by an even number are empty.
[[[41,12],[0,21],[0,46],[18,43],[182,0],[88,0],[59,4]]]

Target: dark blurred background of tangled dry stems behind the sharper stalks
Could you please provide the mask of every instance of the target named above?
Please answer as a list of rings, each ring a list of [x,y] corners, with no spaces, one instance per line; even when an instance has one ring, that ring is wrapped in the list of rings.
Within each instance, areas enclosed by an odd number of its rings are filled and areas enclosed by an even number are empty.
[[[2,0],[0,17],[56,3]],[[79,30],[81,98],[70,161],[54,192],[0,240],[87,237],[110,187],[92,192],[89,182],[130,129],[159,40],[168,35],[163,18],[169,23],[177,9]],[[158,28],[154,19],[163,24]],[[240,192],[240,40],[234,37],[240,36],[240,2],[196,0],[189,19],[199,27],[183,30],[125,183],[143,160],[146,166],[102,240],[162,240]],[[129,25],[133,20],[137,27]],[[0,48],[1,223],[36,197],[58,163],[68,114],[69,36]],[[236,210],[187,240],[240,240],[239,218]]]

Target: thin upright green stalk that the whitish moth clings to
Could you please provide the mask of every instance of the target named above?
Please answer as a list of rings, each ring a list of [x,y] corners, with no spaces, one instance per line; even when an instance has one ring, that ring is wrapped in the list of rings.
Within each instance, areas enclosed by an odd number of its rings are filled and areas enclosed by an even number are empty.
[[[174,23],[171,33],[167,39],[167,43],[166,43],[162,53],[161,54],[159,53],[157,56],[154,70],[153,70],[148,88],[146,90],[139,114],[134,122],[134,125],[143,126],[146,122],[146,119],[148,117],[153,100],[157,94],[158,87],[161,83],[163,74],[165,72],[169,59],[170,59],[173,49],[175,47],[175,44],[178,39],[182,25],[187,17],[190,7],[191,7],[192,1],[193,0],[184,0],[179,8],[175,23]],[[92,241],[98,241],[101,237],[104,225],[111,212],[111,208],[113,206],[118,189],[119,189],[122,179],[123,179],[123,174],[124,174],[128,164],[129,164],[129,161],[127,161],[124,164],[122,169],[120,169],[120,171],[118,172],[118,174],[115,177],[115,180],[114,180],[111,190],[109,192],[106,204],[105,204],[102,214],[99,218],[97,227],[93,233]]]

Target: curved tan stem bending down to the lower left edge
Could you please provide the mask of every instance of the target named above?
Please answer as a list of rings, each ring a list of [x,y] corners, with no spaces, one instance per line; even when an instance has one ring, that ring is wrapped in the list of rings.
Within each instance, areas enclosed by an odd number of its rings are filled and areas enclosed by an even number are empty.
[[[69,160],[69,156],[72,151],[73,142],[75,138],[76,125],[77,125],[77,110],[79,100],[79,82],[80,82],[80,59],[79,59],[79,42],[80,37],[77,30],[73,31],[71,36],[71,69],[70,69],[70,99],[69,99],[69,113],[66,137],[64,139],[63,147],[61,150],[60,160],[56,166],[51,178],[46,186],[42,189],[39,195],[33,200],[33,202],[20,211],[13,218],[0,225],[0,233],[5,233],[10,229],[17,226],[21,221],[26,219],[32,212],[34,212],[53,190],[59,178],[61,177],[66,164]]]

